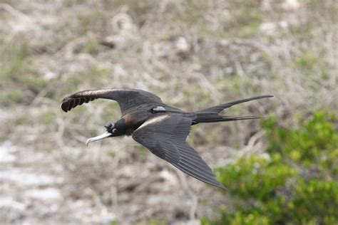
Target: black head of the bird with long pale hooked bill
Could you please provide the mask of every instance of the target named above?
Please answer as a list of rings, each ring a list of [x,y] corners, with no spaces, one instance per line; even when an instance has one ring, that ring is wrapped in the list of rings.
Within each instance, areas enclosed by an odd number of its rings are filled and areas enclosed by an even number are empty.
[[[86,141],[87,146],[91,142],[96,142],[98,140],[102,140],[102,139],[107,138],[107,137],[117,137],[117,136],[121,136],[121,135],[126,134],[125,123],[124,123],[124,121],[121,121],[121,120],[119,120],[116,123],[107,122],[104,127],[106,127],[106,132],[104,132],[102,135],[98,135],[96,137],[89,138]]]

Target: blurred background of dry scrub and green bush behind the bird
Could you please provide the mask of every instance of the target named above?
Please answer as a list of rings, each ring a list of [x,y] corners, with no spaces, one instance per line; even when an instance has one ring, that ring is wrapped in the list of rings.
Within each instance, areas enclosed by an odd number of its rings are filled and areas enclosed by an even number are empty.
[[[337,224],[337,1],[0,1],[0,224]],[[271,94],[193,127],[229,190],[131,138],[86,147],[121,116],[92,88],[200,110]]]

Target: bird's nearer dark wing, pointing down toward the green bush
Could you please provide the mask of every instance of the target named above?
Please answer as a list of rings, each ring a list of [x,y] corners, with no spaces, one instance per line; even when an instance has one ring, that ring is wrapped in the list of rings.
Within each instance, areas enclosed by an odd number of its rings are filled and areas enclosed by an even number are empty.
[[[153,117],[133,132],[133,139],[186,174],[225,189],[198,152],[185,142],[191,122],[181,115]]]

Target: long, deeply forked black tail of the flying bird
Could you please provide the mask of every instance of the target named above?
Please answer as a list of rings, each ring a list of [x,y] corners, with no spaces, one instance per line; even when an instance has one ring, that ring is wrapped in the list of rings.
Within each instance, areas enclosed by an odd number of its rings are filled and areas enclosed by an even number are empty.
[[[232,121],[232,120],[252,120],[252,119],[262,119],[262,116],[250,115],[250,116],[224,116],[219,115],[222,110],[230,108],[232,105],[237,105],[240,103],[246,103],[252,100],[258,100],[262,98],[271,98],[272,95],[261,95],[253,98],[245,98],[242,100],[235,100],[230,103],[225,103],[221,105],[216,105],[205,110],[200,110],[195,112],[197,118],[195,119],[195,124],[199,122],[221,122],[221,121]]]

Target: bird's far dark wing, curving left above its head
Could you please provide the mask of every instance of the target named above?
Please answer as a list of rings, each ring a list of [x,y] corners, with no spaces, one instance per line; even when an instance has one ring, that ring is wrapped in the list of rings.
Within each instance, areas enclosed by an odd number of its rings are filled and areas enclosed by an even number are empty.
[[[116,100],[120,105],[123,115],[130,109],[138,105],[148,103],[162,103],[162,100],[157,95],[145,90],[136,89],[97,89],[97,90],[83,90],[63,98],[61,109],[68,112],[77,105],[88,103],[98,98],[106,98]]]

